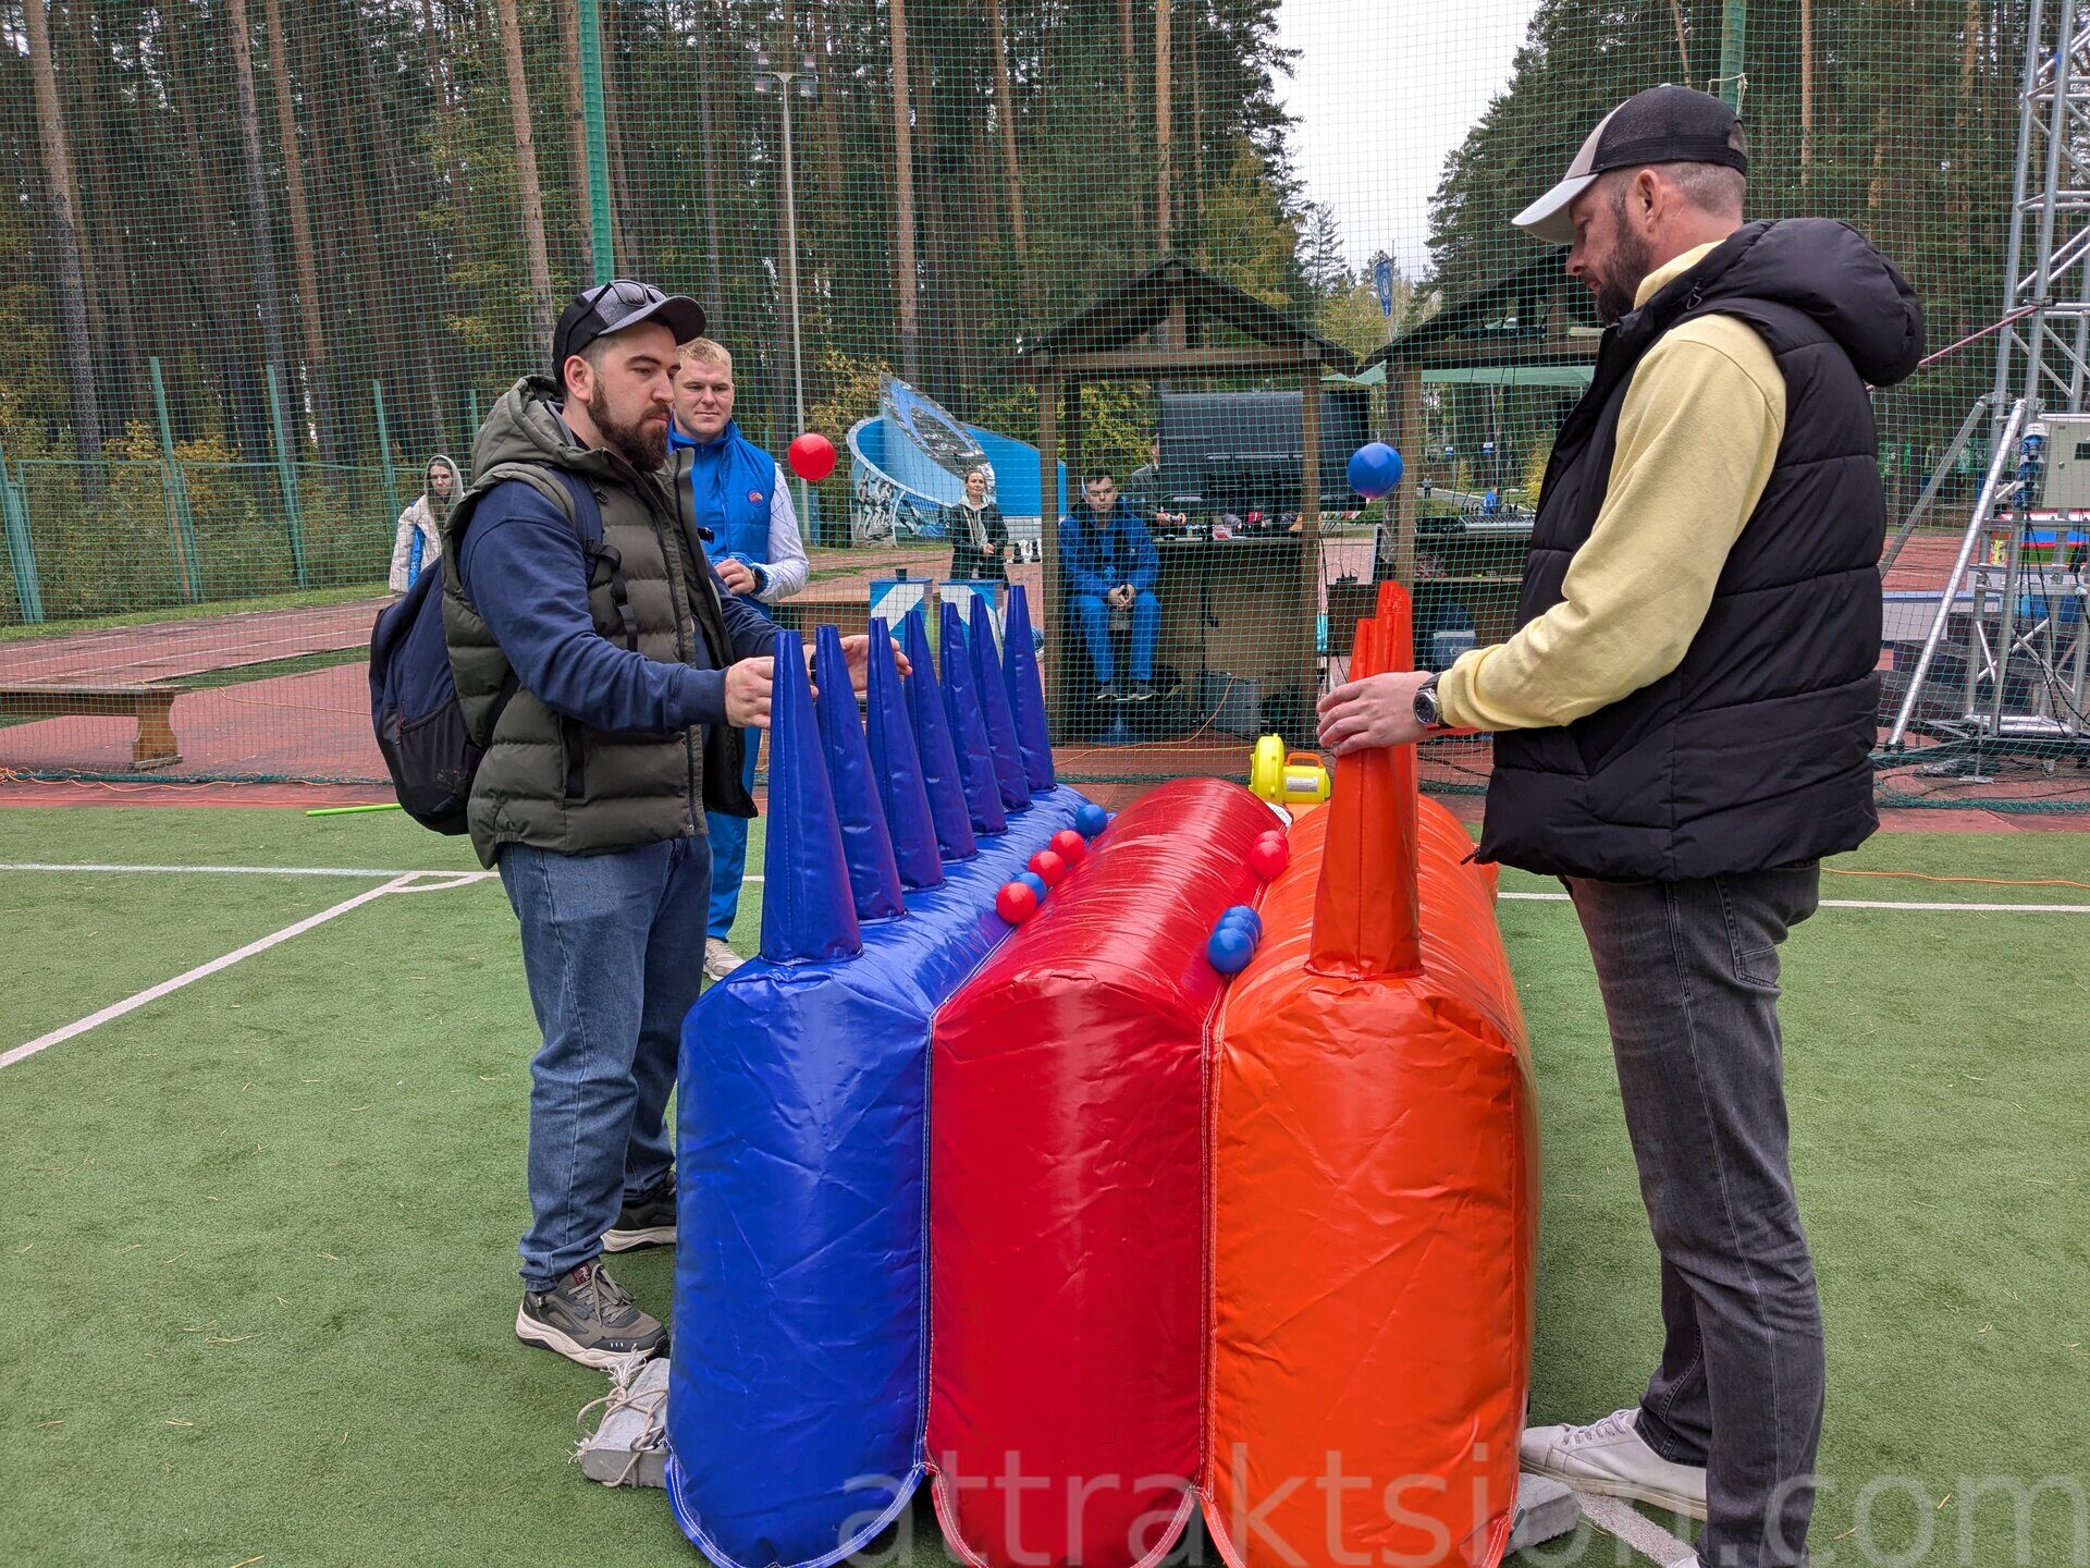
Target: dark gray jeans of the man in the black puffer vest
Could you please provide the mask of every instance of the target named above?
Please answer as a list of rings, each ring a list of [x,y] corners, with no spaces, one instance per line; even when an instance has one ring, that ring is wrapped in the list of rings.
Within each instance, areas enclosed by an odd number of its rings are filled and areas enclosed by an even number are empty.
[[[1705,1466],[1708,1568],[1806,1562],[1822,1319],[1787,1162],[1779,943],[1814,863],[1699,882],[1570,878],[1662,1252],[1641,1436]]]

